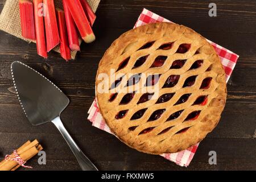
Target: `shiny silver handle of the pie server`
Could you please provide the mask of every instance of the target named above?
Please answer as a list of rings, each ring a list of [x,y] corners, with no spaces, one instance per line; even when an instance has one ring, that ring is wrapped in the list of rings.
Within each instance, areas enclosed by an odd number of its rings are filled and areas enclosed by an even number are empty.
[[[88,159],[84,153],[81,151],[76,142],[69,135],[68,131],[65,129],[63,123],[60,120],[60,117],[56,117],[52,120],[52,123],[59,129],[61,135],[64,137],[68,146],[71,148],[73,154],[76,156],[77,161],[79,162],[80,167],[83,171],[98,171],[94,164]]]

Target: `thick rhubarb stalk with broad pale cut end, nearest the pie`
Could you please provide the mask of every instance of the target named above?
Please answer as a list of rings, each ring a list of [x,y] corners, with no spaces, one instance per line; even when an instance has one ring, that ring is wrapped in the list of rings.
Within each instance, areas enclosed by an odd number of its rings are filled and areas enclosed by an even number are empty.
[[[84,42],[93,42],[95,40],[95,36],[93,34],[92,27],[90,27],[88,19],[86,18],[84,9],[82,9],[80,0],[64,1],[67,2],[68,8]]]

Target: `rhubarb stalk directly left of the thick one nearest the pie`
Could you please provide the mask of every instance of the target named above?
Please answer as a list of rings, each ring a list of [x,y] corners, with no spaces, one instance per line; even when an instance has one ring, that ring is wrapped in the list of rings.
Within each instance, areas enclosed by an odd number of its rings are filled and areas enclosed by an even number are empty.
[[[67,25],[67,31],[68,31],[69,48],[71,48],[72,51],[80,51],[79,36],[77,34],[76,24],[68,9],[68,5],[66,1],[63,1],[63,8],[64,8],[65,20]]]

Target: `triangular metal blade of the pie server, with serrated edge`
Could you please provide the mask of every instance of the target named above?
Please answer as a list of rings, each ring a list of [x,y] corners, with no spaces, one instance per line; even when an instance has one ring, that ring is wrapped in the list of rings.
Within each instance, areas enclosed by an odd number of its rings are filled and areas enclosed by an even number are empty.
[[[15,61],[11,70],[20,104],[32,125],[52,121],[68,106],[68,97],[34,69]]]

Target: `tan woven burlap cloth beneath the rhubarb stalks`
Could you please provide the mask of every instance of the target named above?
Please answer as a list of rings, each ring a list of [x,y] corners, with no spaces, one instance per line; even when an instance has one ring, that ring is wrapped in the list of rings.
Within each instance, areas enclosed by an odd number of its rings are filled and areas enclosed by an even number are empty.
[[[97,10],[100,0],[87,0],[90,7],[92,7],[94,13]],[[55,6],[59,8],[62,7],[61,0],[55,0]],[[5,31],[11,35],[16,36],[17,38],[31,42],[31,40],[24,39],[22,37],[21,27],[20,27],[20,18],[19,18],[19,0],[6,0],[5,6],[3,7],[2,13],[0,15],[0,30]],[[35,41],[32,41],[35,43]],[[81,40],[80,40],[81,44]],[[59,46],[53,49],[56,52],[60,52]],[[77,51],[71,52],[72,59],[75,59]]]

